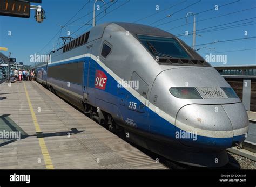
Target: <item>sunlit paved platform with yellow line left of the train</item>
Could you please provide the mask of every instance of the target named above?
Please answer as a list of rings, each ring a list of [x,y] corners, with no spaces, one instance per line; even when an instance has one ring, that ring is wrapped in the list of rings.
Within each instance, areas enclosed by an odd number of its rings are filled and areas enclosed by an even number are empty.
[[[1,169],[166,169],[35,81],[0,84],[1,131]]]

